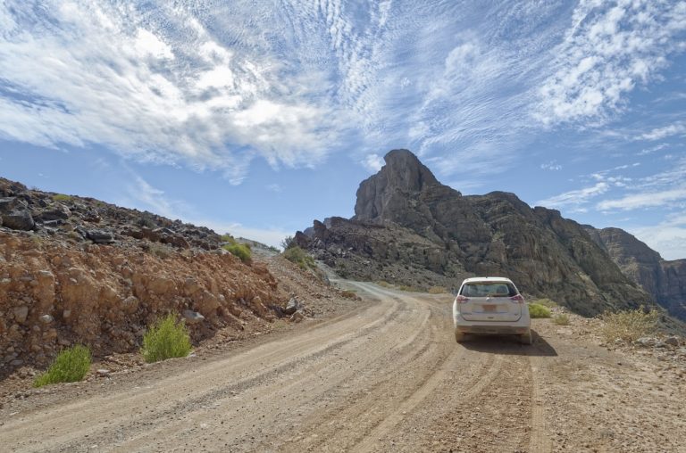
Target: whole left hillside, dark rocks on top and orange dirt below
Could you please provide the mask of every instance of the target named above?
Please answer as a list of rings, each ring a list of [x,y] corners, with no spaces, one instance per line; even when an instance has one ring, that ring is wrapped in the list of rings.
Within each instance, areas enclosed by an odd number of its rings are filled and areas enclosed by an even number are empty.
[[[212,230],[149,212],[0,178],[0,218],[0,378],[77,342],[96,358],[136,351],[166,313],[198,342],[269,330],[292,295],[331,297],[307,276],[291,282],[291,263],[279,278],[269,259],[224,251]]]

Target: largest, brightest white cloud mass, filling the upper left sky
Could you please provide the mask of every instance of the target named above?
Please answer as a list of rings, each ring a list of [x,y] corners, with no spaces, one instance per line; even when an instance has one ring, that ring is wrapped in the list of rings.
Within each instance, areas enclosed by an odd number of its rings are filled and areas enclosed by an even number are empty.
[[[227,48],[195,14],[183,4],[152,14],[85,0],[39,11],[0,4],[0,138],[101,144],[220,169],[233,182],[255,155],[272,165],[321,161],[343,115],[314,100],[320,85],[283,77],[269,49]]]

